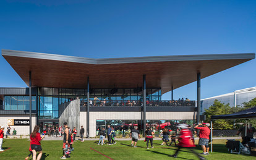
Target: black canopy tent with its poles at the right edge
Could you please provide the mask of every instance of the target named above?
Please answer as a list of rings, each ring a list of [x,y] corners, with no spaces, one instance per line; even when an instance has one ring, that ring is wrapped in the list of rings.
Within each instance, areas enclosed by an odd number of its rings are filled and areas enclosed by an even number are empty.
[[[232,114],[223,114],[218,116],[211,116],[211,152],[213,152],[213,120],[218,119],[250,119],[250,118],[256,118],[256,106],[245,109],[244,111],[235,112]],[[245,136],[247,134],[247,120],[245,124]]]

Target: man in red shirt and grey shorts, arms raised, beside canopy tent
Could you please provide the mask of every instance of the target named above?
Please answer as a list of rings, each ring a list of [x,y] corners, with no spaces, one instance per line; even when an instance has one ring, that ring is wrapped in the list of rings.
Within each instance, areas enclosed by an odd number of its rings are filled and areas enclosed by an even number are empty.
[[[202,127],[199,127],[199,126]],[[210,126],[210,124],[199,124],[195,126],[195,129],[200,130],[199,132],[199,141],[198,141],[198,145],[200,145],[202,147],[203,150],[203,155],[208,155],[209,154],[209,135],[210,135],[210,128],[208,128]]]

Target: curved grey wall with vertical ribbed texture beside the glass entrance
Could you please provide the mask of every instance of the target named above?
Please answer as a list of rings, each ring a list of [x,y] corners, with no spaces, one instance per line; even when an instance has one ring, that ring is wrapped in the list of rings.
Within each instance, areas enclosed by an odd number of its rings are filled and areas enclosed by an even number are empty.
[[[59,124],[62,125],[64,122],[67,122],[67,125],[71,129],[76,127],[77,130],[80,130],[80,100],[75,99],[74,101],[71,101],[67,106],[59,107],[61,107]]]

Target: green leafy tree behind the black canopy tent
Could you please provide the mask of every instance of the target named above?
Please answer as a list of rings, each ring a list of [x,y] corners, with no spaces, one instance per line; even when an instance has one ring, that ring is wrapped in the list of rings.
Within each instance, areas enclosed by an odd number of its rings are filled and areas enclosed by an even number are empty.
[[[228,104],[221,103],[217,99],[215,99],[213,105],[211,105],[208,109],[205,109],[203,112],[206,115],[206,121],[211,121],[211,116],[220,115],[220,114],[230,114],[231,107]],[[213,120],[213,126],[215,129],[232,129],[233,128],[233,120]]]

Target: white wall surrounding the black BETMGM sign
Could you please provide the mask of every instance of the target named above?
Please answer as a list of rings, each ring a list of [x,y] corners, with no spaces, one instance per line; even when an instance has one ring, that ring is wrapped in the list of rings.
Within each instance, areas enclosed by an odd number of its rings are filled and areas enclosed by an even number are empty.
[[[6,134],[6,131],[7,131],[7,120],[8,119],[29,119],[29,116],[27,115],[0,115],[0,125],[4,126],[4,134]],[[33,131],[33,128],[35,127],[36,125],[36,117],[35,115],[32,115],[32,131]],[[12,131],[13,129],[15,128],[15,130],[17,130],[17,135],[29,135],[29,125],[14,125],[14,126],[11,126],[11,134],[12,134]]]

